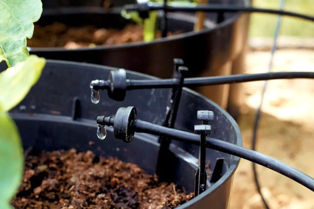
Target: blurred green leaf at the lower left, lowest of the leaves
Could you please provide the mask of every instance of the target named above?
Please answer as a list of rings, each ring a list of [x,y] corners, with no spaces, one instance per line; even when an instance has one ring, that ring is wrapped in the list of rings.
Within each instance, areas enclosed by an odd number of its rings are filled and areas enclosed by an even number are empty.
[[[23,175],[24,154],[19,131],[7,112],[0,112],[0,208],[12,209],[10,201]]]

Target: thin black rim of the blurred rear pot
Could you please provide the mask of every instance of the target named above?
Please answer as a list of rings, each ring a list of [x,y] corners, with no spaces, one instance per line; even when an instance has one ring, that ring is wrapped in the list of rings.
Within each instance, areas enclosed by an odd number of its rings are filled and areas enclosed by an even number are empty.
[[[246,0],[243,0],[246,1]],[[106,11],[106,9],[102,8],[96,8],[96,7],[67,7],[67,8],[59,8],[59,9],[46,9],[43,11],[42,16],[49,16],[49,15],[56,15],[56,14],[86,14],[86,13],[112,13],[112,14],[117,14],[120,11],[118,8],[116,10],[110,10],[109,12]],[[166,38],[161,38],[161,39],[156,39],[153,42],[135,42],[135,43],[126,43],[126,44],[119,44],[119,45],[104,45],[104,46],[95,46],[93,48],[90,47],[82,47],[79,49],[64,49],[63,47],[27,47],[30,52],[36,53],[36,52],[46,52],[46,51],[51,51],[51,52],[64,52],[64,51],[82,51],[82,52],[88,52],[88,51],[93,51],[93,50],[109,50],[109,49],[127,49],[130,47],[139,47],[139,46],[145,46],[149,44],[154,44],[154,43],[163,43],[167,41],[172,41],[172,40],[179,40],[179,39],[185,39],[188,37],[196,36],[199,34],[206,34],[209,31],[213,31],[215,29],[222,28],[228,24],[234,23],[239,17],[241,16],[241,13],[236,13],[233,17],[226,19],[220,24],[213,23],[210,20],[207,20],[207,24],[214,24],[214,27],[208,27],[205,28],[199,32],[187,32],[183,34],[178,34],[174,35],[171,37],[166,37]],[[186,14],[186,13],[168,13],[168,18],[172,19],[178,19],[178,20],[184,20],[187,22],[194,23],[195,17]]]

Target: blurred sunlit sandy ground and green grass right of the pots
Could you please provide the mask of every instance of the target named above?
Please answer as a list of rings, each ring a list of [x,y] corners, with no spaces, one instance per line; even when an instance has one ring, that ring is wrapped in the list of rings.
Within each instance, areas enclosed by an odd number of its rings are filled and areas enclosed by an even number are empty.
[[[280,0],[253,0],[253,6],[279,8]],[[313,0],[286,0],[285,10],[314,15]],[[269,47],[276,24],[275,15],[252,14],[246,73],[268,70]],[[277,50],[272,71],[314,71],[314,24],[283,17],[280,41],[312,50]],[[288,37],[288,39],[285,39]],[[288,40],[288,41],[287,41]],[[267,43],[267,44],[266,44]],[[284,47],[285,48],[285,47]],[[288,47],[289,48],[289,47]],[[253,121],[261,98],[263,81],[241,84],[243,105],[239,126],[243,145],[251,148]],[[278,159],[314,177],[314,81],[306,79],[269,81],[257,134],[257,151]],[[314,209],[314,193],[298,183],[257,165],[260,185],[270,209]],[[236,171],[230,209],[264,209],[253,180],[252,163],[241,159]]]

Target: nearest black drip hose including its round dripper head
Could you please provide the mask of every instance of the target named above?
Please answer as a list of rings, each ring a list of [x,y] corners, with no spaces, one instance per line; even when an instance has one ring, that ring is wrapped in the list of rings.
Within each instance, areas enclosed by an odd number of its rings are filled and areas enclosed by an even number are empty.
[[[114,128],[117,128],[117,132],[115,133],[115,136],[116,138],[119,138],[119,139],[124,139],[125,134],[127,134],[127,138],[128,138],[131,135],[133,136],[135,132],[149,133],[156,136],[169,137],[179,142],[200,146],[200,138],[199,138],[200,135],[198,134],[181,131],[181,130],[177,130],[173,128],[166,128],[161,125],[156,125],[154,123],[149,123],[149,122],[138,120],[138,119],[132,120],[130,123],[128,122],[123,123],[123,121],[125,121],[123,118],[128,117],[125,114],[118,114],[118,116],[116,114],[116,117],[119,117],[119,118],[98,116],[97,123],[100,125],[114,126]],[[124,133],[123,130],[128,130],[128,131]],[[236,144],[232,144],[229,142],[225,142],[223,140],[209,138],[209,137],[206,137],[206,147],[208,149],[221,151],[227,154],[231,154],[231,155],[252,161],[259,165],[262,165],[266,168],[276,171],[298,182],[299,184],[310,189],[311,191],[314,191],[314,179],[311,176],[306,175],[305,173],[289,165],[286,165],[283,162],[280,162],[269,156],[261,154],[257,151],[247,149],[242,146],[238,146]]]

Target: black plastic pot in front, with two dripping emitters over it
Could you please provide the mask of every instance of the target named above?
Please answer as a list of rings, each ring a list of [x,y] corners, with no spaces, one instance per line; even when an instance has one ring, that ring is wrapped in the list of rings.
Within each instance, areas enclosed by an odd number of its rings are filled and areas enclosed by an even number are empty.
[[[3,70],[4,68],[2,68]],[[48,60],[38,83],[27,97],[12,112],[19,127],[24,149],[32,146],[41,150],[75,148],[78,151],[92,150],[105,157],[114,156],[122,161],[139,165],[149,174],[154,174],[158,156],[158,138],[150,134],[136,133],[133,142],[116,140],[112,129],[107,129],[105,140],[96,136],[95,118],[99,114],[113,116],[119,107],[135,106],[138,117],[148,122],[162,124],[165,115],[167,89],[134,90],[127,92],[123,102],[111,100],[101,92],[98,105],[90,101],[89,82],[106,78],[111,67],[84,63]],[[127,71],[128,79],[157,79],[152,76]],[[234,119],[223,108],[200,94],[184,88],[175,128],[193,132],[198,110],[214,111],[211,123],[212,137],[242,145],[240,130]],[[94,145],[89,145],[94,141]],[[175,162],[169,170],[171,181],[194,191],[197,169],[198,146],[173,142],[170,147]],[[123,151],[124,150],[124,151]],[[208,189],[178,208],[229,208],[233,175],[240,158],[208,150],[206,160],[210,163]],[[216,163],[218,162],[219,163]]]

